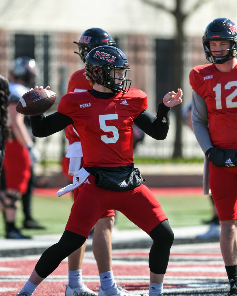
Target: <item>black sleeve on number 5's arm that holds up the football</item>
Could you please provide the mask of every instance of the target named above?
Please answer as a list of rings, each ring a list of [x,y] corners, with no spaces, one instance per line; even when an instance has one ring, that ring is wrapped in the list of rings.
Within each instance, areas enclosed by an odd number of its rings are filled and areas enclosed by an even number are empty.
[[[63,130],[66,126],[74,123],[73,120],[62,113],[55,112],[48,116],[44,114],[30,116],[31,129],[34,136],[42,138]]]

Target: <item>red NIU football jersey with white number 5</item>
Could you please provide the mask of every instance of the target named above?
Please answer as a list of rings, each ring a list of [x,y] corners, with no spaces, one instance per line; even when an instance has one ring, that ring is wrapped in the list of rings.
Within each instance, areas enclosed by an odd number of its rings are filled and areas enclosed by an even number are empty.
[[[133,120],[147,108],[140,89],[99,99],[86,92],[67,93],[58,112],[74,121],[80,136],[84,166],[123,166],[133,163]]]

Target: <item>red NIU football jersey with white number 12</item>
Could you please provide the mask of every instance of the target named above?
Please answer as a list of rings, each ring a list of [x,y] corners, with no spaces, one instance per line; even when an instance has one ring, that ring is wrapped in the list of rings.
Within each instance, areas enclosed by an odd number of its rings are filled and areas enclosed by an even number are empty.
[[[209,134],[213,145],[237,144],[237,66],[229,72],[214,64],[194,67],[190,85],[206,102]]]

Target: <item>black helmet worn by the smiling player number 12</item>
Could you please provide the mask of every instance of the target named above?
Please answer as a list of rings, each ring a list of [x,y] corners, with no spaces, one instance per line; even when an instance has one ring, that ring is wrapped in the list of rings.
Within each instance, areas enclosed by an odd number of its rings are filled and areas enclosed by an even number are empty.
[[[221,55],[214,56],[210,51],[210,41],[230,41],[230,48],[222,51]],[[202,37],[202,44],[206,59],[211,63],[223,64],[234,57],[237,54],[237,26],[228,18],[214,19],[207,27]],[[228,51],[227,55],[224,52]]]

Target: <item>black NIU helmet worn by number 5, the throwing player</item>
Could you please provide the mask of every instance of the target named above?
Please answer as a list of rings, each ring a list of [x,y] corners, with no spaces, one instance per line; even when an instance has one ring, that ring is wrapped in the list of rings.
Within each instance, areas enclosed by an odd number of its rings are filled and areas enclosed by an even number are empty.
[[[113,46],[99,46],[92,49],[86,56],[86,78],[92,79],[114,93],[127,93],[132,80],[126,79],[130,71],[125,54]],[[122,78],[115,78],[116,70],[123,70]]]

